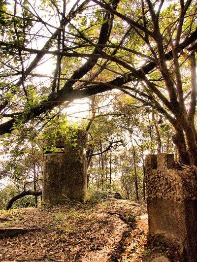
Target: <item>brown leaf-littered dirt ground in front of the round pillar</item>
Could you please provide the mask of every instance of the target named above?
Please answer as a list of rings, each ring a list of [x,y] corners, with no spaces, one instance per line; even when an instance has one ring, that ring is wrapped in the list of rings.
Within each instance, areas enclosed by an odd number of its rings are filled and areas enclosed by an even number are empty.
[[[136,223],[135,223],[136,219]],[[148,262],[146,202],[109,199],[0,211],[0,228],[29,229],[0,239],[0,261]]]

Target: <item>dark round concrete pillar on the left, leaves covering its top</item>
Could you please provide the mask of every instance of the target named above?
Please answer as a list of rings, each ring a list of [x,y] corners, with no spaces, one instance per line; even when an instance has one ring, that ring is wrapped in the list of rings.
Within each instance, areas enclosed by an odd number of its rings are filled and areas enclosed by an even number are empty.
[[[87,133],[78,131],[77,146],[64,145],[64,153],[44,155],[42,203],[82,201],[87,195],[87,163],[84,147]]]

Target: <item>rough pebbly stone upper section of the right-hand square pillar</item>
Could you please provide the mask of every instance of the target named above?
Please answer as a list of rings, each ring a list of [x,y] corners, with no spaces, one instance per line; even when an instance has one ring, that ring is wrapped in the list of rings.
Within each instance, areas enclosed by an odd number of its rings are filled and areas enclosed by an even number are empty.
[[[176,165],[172,162],[172,154],[158,154],[157,163],[156,160],[153,160],[155,157],[149,155],[146,158],[147,199],[159,197],[177,202],[197,199],[195,168],[181,165],[182,170],[177,170]],[[151,161],[155,162],[157,169],[152,168]]]

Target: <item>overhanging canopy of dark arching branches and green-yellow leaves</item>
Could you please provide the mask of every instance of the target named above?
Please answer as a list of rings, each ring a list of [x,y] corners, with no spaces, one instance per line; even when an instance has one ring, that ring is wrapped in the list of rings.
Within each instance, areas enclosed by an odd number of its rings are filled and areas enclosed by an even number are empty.
[[[118,89],[160,112],[174,128],[181,161],[197,164],[196,6],[2,1],[0,134],[29,128],[74,99]]]

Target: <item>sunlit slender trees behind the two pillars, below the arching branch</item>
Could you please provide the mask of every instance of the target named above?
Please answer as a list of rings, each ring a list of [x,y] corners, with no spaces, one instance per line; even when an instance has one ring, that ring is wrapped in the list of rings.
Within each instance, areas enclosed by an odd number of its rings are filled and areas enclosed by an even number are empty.
[[[45,146],[45,139],[67,133],[68,141],[74,144],[73,130],[78,128],[89,128],[86,151],[91,155],[87,157],[89,196],[97,200],[119,192],[125,198],[145,199],[145,155],[176,152],[171,140],[172,128],[157,112],[146,110],[136,100],[119,93],[94,96],[89,104],[89,114],[86,112],[84,119],[71,126],[71,120],[67,120],[71,116],[58,113],[31,141],[23,138],[18,143],[18,134],[13,133],[3,139],[1,208],[6,207],[11,197],[23,192],[26,183],[26,190],[41,190],[43,153],[60,151],[55,146]],[[21,198],[14,204],[28,205],[37,205],[34,197]]]

